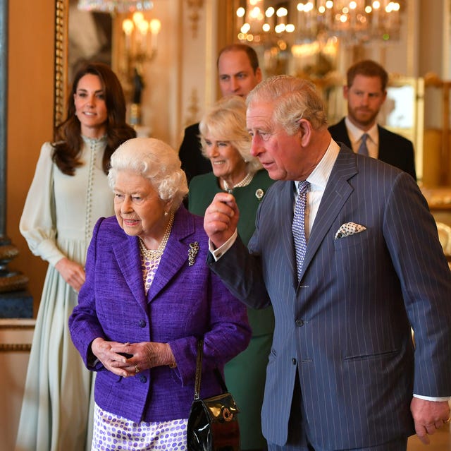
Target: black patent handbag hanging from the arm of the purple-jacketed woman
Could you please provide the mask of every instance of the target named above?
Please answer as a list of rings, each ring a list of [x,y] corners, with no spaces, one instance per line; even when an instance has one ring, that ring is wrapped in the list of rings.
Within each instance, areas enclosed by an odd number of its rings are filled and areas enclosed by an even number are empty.
[[[223,393],[210,398],[200,398],[202,354],[204,340],[197,342],[196,381],[194,401],[187,424],[188,451],[240,451],[240,427],[235,399],[228,392],[218,368],[216,377]]]

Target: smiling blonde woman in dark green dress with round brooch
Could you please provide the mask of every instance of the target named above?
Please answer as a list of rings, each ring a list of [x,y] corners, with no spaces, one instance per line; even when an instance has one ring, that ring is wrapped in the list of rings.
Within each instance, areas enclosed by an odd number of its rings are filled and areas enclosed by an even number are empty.
[[[257,158],[250,153],[251,138],[246,128],[246,104],[242,97],[224,97],[207,112],[199,124],[202,152],[213,172],[195,176],[190,183],[188,208],[204,216],[216,193],[233,193],[240,208],[238,233],[247,244],[255,228],[257,208],[273,184]],[[228,390],[240,407],[238,416],[242,450],[265,450],[261,434],[266,364],[273,339],[272,308],[247,308],[252,339],[249,347],[226,363]]]

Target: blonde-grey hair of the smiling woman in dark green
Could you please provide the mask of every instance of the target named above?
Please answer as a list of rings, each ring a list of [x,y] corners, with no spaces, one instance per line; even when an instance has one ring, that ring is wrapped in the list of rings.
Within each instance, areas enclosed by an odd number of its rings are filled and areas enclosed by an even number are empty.
[[[238,95],[223,97],[209,109],[199,123],[202,155],[206,155],[205,137],[209,134],[217,140],[228,141],[247,163],[247,170],[254,174],[262,168],[259,159],[251,155],[251,137],[246,127],[246,102]]]

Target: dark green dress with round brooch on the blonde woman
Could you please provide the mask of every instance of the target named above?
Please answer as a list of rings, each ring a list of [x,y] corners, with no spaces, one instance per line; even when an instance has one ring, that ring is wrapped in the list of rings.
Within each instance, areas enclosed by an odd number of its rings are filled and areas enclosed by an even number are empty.
[[[255,229],[257,208],[268,188],[273,184],[268,173],[261,169],[251,183],[242,188],[234,188],[233,196],[240,209],[238,234],[247,245]],[[190,183],[188,208],[195,215],[204,216],[216,193],[223,190],[218,179],[209,172],[195,176]],[[274,330],[273,308],[255,310],[247,308],[252,339],[249,347],[226,364],[224,373],[228,390],[240,407],[238,415],[242,450],[262,450],[266,440],[261,434],[261,404],[263,403],[266,365],[271,351]]]

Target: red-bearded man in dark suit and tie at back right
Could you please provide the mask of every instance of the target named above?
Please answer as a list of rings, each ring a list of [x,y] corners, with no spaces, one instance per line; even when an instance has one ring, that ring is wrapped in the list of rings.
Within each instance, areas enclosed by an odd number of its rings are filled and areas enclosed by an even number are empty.
[[[376,124],[387,97],[387,83],[388,73],[375,61],[359,61],[351,66],[343,87],[347,116],[330,126],[329,131],[335,141],[345,143],[354,152],[359,151],[362,136],[367,133],[367,155],[399,167],[416,180],[412,142]]]

